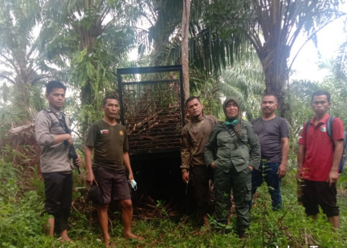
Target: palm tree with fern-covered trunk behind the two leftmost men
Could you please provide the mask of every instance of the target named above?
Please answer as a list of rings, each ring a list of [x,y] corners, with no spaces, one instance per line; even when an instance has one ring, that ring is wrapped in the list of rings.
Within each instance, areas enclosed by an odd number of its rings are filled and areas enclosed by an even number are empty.
[[[134,44],[136,1],[48,0],[41,48],[68,67],[70,84],[80,89],[80,121],[85,134],[99,117],[101,100],[115,92],[116,67]]]

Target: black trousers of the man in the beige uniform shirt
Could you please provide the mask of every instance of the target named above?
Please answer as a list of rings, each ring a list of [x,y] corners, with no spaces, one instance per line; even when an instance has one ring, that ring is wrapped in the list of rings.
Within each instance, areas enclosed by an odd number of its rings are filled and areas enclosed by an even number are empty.
[[[42,173],[45,183],[45,207],[48,214],[55,218],[55,232],[68,229],[67,219],[70,216],[72,202],[72,173]]]

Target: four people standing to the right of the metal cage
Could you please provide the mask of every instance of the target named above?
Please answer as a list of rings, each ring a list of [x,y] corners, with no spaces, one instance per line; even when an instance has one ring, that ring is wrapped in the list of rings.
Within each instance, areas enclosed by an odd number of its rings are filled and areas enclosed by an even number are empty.
[[[280,185],[287,172],[289,126],[285,119],[275,114],[277,98],[264,95],[262,117],[251,123],[240,118],[240,104],[235,97],[228,97],[223,103],[223,122],[204,115],[203,105],[195,96],[189,97],[185,105],[191,119],[182,129],[182,179],[193,182],[197,212],[206,228],[209,227],[209,180],[213,181],[214,215],[219,224],[230,224],[232,189],[237,217],[235,231],[239,238],[244,238],[250,226],[253,194],[264,181],[272,209],[283,208]],[[328,221],[338,228],[340,213],[336,182],[343,155],[344,126],[339,118],[335,118],[333,136],[329,137],[326,125],[330,106],[329,92],[317,91],[312,95],[311,107],[315,116],[305,124],[298,141],[296,179],[301,181],[307,216],[316,219],[321,206]]]

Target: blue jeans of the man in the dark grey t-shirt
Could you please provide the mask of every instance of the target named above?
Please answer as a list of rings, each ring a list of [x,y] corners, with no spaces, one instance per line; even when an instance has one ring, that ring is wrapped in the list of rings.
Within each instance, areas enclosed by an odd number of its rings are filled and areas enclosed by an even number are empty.
[[[275,211],[282,208],[281,179],[277,174],[279,166],[280,163],[265,163],[264,165],[261,163],[259,169],[254,169],[252,171],[252,198],[249,201],[249,210],[251,210],[252,207],[253,194],[264,181],[268,185],[272,201],[272,210]]]

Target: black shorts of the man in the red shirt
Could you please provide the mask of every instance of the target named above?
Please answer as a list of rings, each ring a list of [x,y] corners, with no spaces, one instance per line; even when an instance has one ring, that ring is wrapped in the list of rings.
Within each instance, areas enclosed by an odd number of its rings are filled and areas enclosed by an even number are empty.
[[[319,205],[327,217],[338,216],[339,207],[336,205],[336,185],[329,187],[327,182],[315,182],[303,180],[301,182],[302,204],[305,213],[316,215],[319,213]]]

